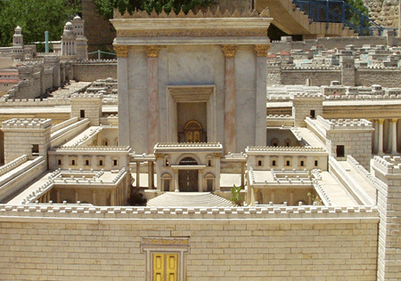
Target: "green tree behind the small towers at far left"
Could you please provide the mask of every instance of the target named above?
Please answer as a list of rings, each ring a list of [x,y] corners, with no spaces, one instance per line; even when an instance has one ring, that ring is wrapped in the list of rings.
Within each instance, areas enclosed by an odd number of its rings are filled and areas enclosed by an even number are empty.
[[[0,0],[0,45],[12,44],[17,26],[26,44],[45,41],[45,31],[60,40],[65,22],[80,11],[80,0]]]

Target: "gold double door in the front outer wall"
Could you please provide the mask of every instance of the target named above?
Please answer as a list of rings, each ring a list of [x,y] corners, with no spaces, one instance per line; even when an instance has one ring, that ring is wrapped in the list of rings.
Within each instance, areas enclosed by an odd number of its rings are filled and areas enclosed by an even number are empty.
[[[177,281],[178,253],[153,253],[153,281]]]

